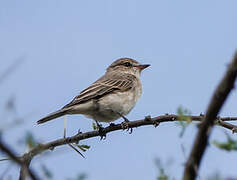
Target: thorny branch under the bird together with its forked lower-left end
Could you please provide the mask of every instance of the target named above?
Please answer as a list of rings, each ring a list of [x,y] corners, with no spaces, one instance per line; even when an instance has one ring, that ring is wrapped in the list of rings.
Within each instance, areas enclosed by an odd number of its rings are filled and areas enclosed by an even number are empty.
[[[184,119],[189,118],[195,122],[202,122],[204,116],[203,115],[182,116],[182,118],[184,118]],[[127,123],[127,128],[129,128],[129,129],[130,128],[137,128],[140,126],[147,126],[147,125],[153,125],[153,126],[157,127],[160,123],[175,122],[175,121],[180,121],[180,116],[174,115],[174,114],[170,114],[170,115],[166,114],[166,115],[157,116],[154,118],[147,116],[142,120],[129,121]],[[232,130],[233,132],[236,132],[234,130],[235,125],[227,123],[226,121],[237,121],[237,117],[222,117],[222,118],[218,117],[218,118],[216,118],[215,123],[216,123],[216,125],[223,126],[227,129]],[[71,136],[71,137],[57,139],[55,141],[51,141],[51,142],[48,142],[45,144],[38,144],[36,147],[31,149],[29,152],[23,154],[23,156],[21,156],[21,157],[16,157],[13,153],[11,153],[11,151],[6,151],[4,148],[1,147],[1,143],[0,143],[0,150],[3,152],[6,152],[6,154],[9,157],[11,157],[16,163],[21,165],[20,179],[26,178],[26,174],[27,174],[26,171],[29,171],[28,173],[32,179],[37,179],[34,176],[34,174],[32,173],[32,170],[31,171],[29,170],[30,162],[36,155],[38,155],[46,150],[53,150],[55,147],[58,147],[58,146],[68,145],[71,143],[78,143],[80,140],[85,140],[85,139],[89,139],[89,138],[93,138],[93,137],[101,137],[101,134],[106,136],[106,134],[113,132],[113,131],[118,131],[118,130],[124,130],[123,123],[109,125],[108,127],[103,128],[102,132],[100,132],[98,130],[89,131],[89,132],[85,132],[85,133],[79,132],[78,134]],[[13,156],[10,155],[9,152],[11,154],[13,154]]]

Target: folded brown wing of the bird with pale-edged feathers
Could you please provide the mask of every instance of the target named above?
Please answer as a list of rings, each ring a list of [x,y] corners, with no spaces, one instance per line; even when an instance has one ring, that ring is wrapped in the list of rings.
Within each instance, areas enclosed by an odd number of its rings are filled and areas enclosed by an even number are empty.
[[[127,91],[133,87],[136,80],[134,75],[130,74],[110,74],[104,75],[85,90],[81,91],[69,104],[63,108],[68,108],[91,99],[98,99],[110,92],[120,90]]]

